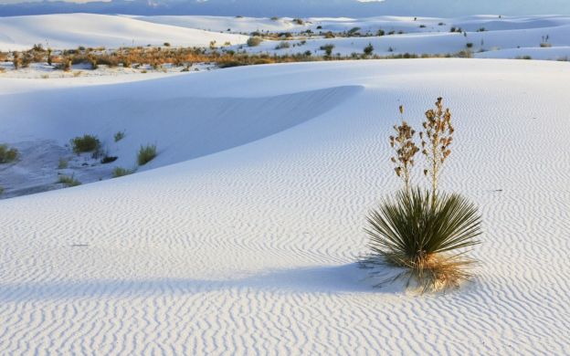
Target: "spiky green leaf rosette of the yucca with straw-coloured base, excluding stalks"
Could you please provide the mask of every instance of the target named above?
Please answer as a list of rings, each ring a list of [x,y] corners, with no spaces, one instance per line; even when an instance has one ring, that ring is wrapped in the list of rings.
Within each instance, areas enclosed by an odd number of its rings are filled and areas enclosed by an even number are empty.
[[[423,293],[458,287],[471,277],[475,261],[465,256],[465,248],[480,243],[481,220],[477,207],[461,195],[438,193],[434,200],[421,188],[402,190],[385,198],[367,221],[372,254],[363,266],[406,268],[377,286],[404,278],[406,287],[414,282]]]

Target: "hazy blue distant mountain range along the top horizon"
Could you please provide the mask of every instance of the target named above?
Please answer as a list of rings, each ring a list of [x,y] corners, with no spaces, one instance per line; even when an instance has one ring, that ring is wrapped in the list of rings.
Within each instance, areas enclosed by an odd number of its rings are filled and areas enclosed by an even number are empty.
[[[212,16],[570,15],[570,0],[112,0],[0,5],[0,16],[61,13]]]

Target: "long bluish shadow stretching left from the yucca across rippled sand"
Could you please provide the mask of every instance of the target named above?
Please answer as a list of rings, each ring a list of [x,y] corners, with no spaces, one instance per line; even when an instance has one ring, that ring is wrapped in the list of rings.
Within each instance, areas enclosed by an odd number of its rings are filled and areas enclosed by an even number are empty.
[[[390,268],[391,269],[391,268]],[[137,298],[216,292],[229,289],[258,289],[275,293],[366,293],[396,294],[400,283],[372,288],[377,283],[357,264],[336,267],[301,267],[275,270],[251,277],[207,280],[192,278],[103,279],[54,281],[52,283],[0,284],[0,302],[74,298]]]

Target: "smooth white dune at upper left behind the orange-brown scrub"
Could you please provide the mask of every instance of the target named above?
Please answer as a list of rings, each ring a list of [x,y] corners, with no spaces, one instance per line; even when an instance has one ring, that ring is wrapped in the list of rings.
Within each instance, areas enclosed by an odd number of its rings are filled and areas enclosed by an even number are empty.
[[[244,43],[248,37],[192,28],[150,24],[126,16],[58,14],[0,17],[0,50],[53,48],[173,46],[207,47]]]

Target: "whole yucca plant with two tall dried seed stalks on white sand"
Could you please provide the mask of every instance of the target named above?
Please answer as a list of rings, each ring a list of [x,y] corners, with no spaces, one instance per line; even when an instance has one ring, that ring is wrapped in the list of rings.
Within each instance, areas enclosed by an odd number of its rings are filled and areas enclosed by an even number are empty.
[[[403,112],[400,107],[400,113]],[[470,267],[475,261],[466,256],[466,248],[479,244],[477,236],[481,234],[477,206],[460,194],[438,190],[439,173],[453,141],[451,113],[443,109],[443,99],[438,98],[436,109],[425,115],[424,131],[419,136],[428,166],[424,173],[431,190],[412,187],[410,183],[419,149],[414,129],[402,119],[402,124],[395,126],[397,135],[390,137],[390,145],[396,151],[391,161],[396,164],[396,175],[404,181],[404,189],[386,197],[367,216],[368,226],[364,230],[371,252],[360,260],[363,267],[404,268],[396,277],[376,286],[404,278],[406,288],[413,285],[421,293],[457,288],[472,277]]]

